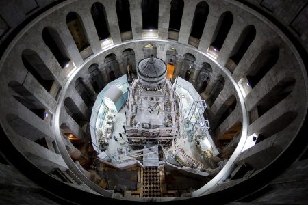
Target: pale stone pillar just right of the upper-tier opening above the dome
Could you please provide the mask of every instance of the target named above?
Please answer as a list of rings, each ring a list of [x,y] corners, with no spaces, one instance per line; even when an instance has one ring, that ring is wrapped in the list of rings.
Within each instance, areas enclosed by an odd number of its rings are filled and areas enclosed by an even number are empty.
[[[168,38],[171,0],[159,1],[158,13],[158,38]]]

